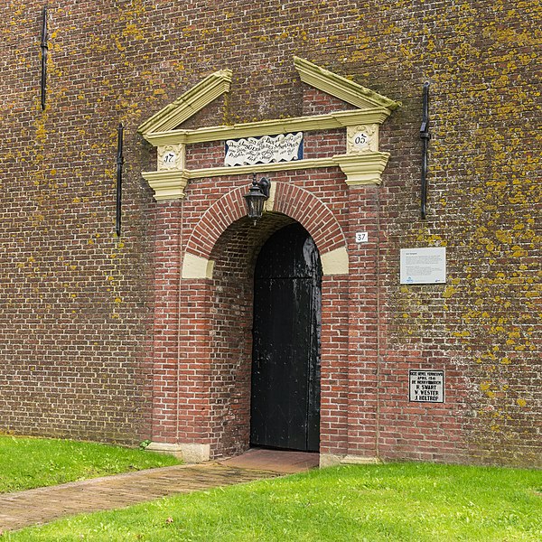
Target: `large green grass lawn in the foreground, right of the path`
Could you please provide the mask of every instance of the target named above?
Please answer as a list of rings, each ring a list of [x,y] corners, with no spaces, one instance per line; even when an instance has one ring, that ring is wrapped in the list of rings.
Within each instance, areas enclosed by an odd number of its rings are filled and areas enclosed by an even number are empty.
[[[23,540],[542,540],[542,472],[424,463],[343,466],[78,516]]]

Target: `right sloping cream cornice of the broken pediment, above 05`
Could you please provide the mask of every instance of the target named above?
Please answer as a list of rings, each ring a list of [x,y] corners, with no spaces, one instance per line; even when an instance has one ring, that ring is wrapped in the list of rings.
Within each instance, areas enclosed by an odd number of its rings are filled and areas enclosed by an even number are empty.
[[[324,70],[309,61],[304,61],[299,57],[294,57],[295,69],[299,72],[299,77],[307,85],[315,89],[322,90],[331,94],[335,98],[360,107],[361,109],[371,107],[386,107],[388,115],[400,104],[393,99],[386,98],[374,90],[366,89],[350,79],[346,79],[329,70]]]

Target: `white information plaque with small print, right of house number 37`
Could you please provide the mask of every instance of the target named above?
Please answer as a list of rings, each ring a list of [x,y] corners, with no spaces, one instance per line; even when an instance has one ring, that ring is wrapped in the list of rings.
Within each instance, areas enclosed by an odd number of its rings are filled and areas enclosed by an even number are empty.
[[[446,282],[446,248],[401,248],[401,284]]]

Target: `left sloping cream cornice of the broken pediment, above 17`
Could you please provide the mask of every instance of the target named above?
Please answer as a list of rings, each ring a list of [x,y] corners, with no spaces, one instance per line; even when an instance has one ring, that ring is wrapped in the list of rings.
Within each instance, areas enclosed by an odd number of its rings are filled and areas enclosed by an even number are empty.
[[[219,98],[225,92],[229,92],[230,83],[231,70],[211,73],[210,76],[201,80],[192,89],[187,90],[173,103],[165,106],[153,117],[146,120],[137,128],[137,131],[146,138],[146,135],[156,132],[173,130],[203,107],[209,105],[211,101]]]

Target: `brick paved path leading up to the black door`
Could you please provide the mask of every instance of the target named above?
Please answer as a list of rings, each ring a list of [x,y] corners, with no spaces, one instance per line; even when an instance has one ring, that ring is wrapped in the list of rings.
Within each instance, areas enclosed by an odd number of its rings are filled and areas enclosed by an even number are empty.
[[[0,532],[80,513],[123,508],[174,493],[300,472],[315,466],[314,458],[317,455],[255,451],[222,463],[176,465],[0,494]]]

